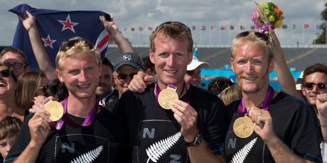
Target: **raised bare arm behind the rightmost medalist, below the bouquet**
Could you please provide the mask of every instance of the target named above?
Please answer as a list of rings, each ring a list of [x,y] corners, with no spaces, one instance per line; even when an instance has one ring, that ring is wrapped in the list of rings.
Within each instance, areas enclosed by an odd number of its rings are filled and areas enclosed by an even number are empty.
[[[302,99],[302,97],[296,91],[294,77],[292,76],[291,71],[289,71],[289,67],[286,64],[284,52],[279,43],[277,35],[274,33],[274,30],[272,30],[271,27],[269,27],[269,31],[274,36],[274,67],[279,84],[286,94]]]

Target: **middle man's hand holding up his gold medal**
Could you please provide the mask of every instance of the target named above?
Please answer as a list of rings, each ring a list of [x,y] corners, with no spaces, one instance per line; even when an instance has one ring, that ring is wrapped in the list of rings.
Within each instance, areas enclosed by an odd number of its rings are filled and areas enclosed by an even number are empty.
[[[198,127],[196,125],[198,119],[198,112],[188,103],[177,100],[173,103],[173,116],[181,125],[181,133],[186,142],[192,142],[196,135],[198,135]]]

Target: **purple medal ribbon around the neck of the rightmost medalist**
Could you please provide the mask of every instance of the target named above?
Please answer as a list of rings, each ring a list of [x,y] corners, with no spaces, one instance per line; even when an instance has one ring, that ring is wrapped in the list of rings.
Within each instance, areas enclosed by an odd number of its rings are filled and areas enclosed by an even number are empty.
[[[268,110],[269,105],[272,102],[273,98],[274,98],[274,89],[272,88],[272,86],[269,86],[266,98],[264,99],[264,103],[262,105],[262,110],[264,110],[264,111]],[[242,98],[240,105],[237,108],[237,113],[239,113],[241,116],[245,116],[245,114],[247,114],[247,116],[249,116],[249,113],[245,109],[243,98]]]

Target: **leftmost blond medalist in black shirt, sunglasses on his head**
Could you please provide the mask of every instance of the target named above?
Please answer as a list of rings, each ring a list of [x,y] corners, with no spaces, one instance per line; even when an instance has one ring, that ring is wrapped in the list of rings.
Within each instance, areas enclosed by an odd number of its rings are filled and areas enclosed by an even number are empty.
[[[69,94],[61,102],[65,114],[51,122],[48,111],[36,110],[25,120],[6,162],[130,162],[126,126],[95,98],[102,62],[94,45],[71,38],[61,45],[55,63]]]

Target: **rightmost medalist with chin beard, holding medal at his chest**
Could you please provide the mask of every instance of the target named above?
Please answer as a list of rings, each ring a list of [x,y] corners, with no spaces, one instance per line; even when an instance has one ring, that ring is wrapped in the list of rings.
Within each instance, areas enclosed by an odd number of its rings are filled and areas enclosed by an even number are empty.
[[[227,162],[321,162],[313,108],[269,86],[274,46],[280,47],[269,30],[274,40],[256,31],[232,40],[230,64],[243,98],[227,106],[232,112],[225,139]]]

